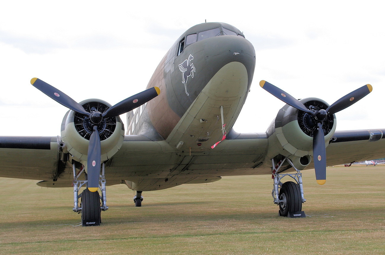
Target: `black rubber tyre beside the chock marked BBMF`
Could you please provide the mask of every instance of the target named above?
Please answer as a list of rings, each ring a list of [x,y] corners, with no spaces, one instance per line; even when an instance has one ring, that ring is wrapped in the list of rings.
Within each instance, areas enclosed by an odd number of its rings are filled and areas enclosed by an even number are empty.
[[[302,201],[301,192],[298,184],[293,181],[286,181],[280,188],[280,200],[284,200],[280,203],[280,215],[288,216],[289,212],[301,211]]]

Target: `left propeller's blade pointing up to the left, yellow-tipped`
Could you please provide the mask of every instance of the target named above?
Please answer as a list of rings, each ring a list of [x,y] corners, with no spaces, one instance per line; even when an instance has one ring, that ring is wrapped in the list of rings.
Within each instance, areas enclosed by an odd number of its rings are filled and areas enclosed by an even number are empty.
[[[84,108],[80,104],[78,104],[74,99],[67,96],[59,89],[56,89],[55,87],[49,85],[47,82],[44,82],[37,78],[32,78],[31,84],[50,98],[54,99],[59,104],[62,104],[63,106],[75,112],[79,112],[87,116],[90,115],[90,113],[85,111]]]

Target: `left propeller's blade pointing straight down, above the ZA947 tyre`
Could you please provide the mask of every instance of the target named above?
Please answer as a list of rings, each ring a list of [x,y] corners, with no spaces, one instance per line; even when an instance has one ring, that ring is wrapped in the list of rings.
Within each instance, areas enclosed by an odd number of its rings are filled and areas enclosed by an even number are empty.
[[[87,155],[87,186],[88,190],[95,192],[99,188],[99,176],[100,176],[100,137],[97,126],[94,126],[94,131],[90,137],[90,143],[88,145]]]

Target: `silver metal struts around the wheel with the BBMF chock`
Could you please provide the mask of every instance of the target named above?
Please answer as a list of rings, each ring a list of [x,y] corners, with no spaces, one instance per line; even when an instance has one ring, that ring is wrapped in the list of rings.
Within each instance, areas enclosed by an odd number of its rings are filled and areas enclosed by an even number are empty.
[[[285,163],[285,161],[287,161],[295,169],[295,171],[297,171],[297,173],[294,173],[294,174],[280,174],[279,173],[279,169],[281,168],[283,163]],[[302,203],[305,203],[306,199],[303,197],[303,185],[302,185],[302,173],[301,173],[301,171],[298,170],[294,166],[293,162],[291,162],[291,160],[289,158],[287,158],[287,157],[285,157],[283,160],[278,162],[277,165],[275,164],[274,159],[271,159],[271,163],[273,164],[273,167],[271,169],[273,171],[273,179],[274,179],[274,188],[273,188],[273,191],[271,192],[271,195],[274,198],[274,203],[279,205],[280,203],[283,202],[283,201],[280,200],[280,195],[279,195],[279,191],[278,190],[282,186],[281,179],[283,177],[285,177],[285,176],[290,176],[291,178],[293,178],[296,181],[296,183],[298,184],[298,186],[300,188],[301,201],[302,201]]]

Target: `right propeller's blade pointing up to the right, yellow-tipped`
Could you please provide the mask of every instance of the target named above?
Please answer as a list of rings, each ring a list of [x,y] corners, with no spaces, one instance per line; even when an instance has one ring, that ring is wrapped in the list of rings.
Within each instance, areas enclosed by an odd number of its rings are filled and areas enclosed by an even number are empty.
[[[335,101],[333,104],[331,104],[331,106],[328,107],[328,109],[326,109],[326,112],[328,114],[335,114],[336,112],[339,112],[339,111],[351,106],[352,104],[354,104],[358,100],[362,99],[367,94],[372,92],[372,90],[373,90],[373,87],[370,84],[362,86],[359,89],[356,89],[355,91],[352,91],[349,94],[347,94],[346,96],[343,96],[340,99],[338,99],[337,101]]]

